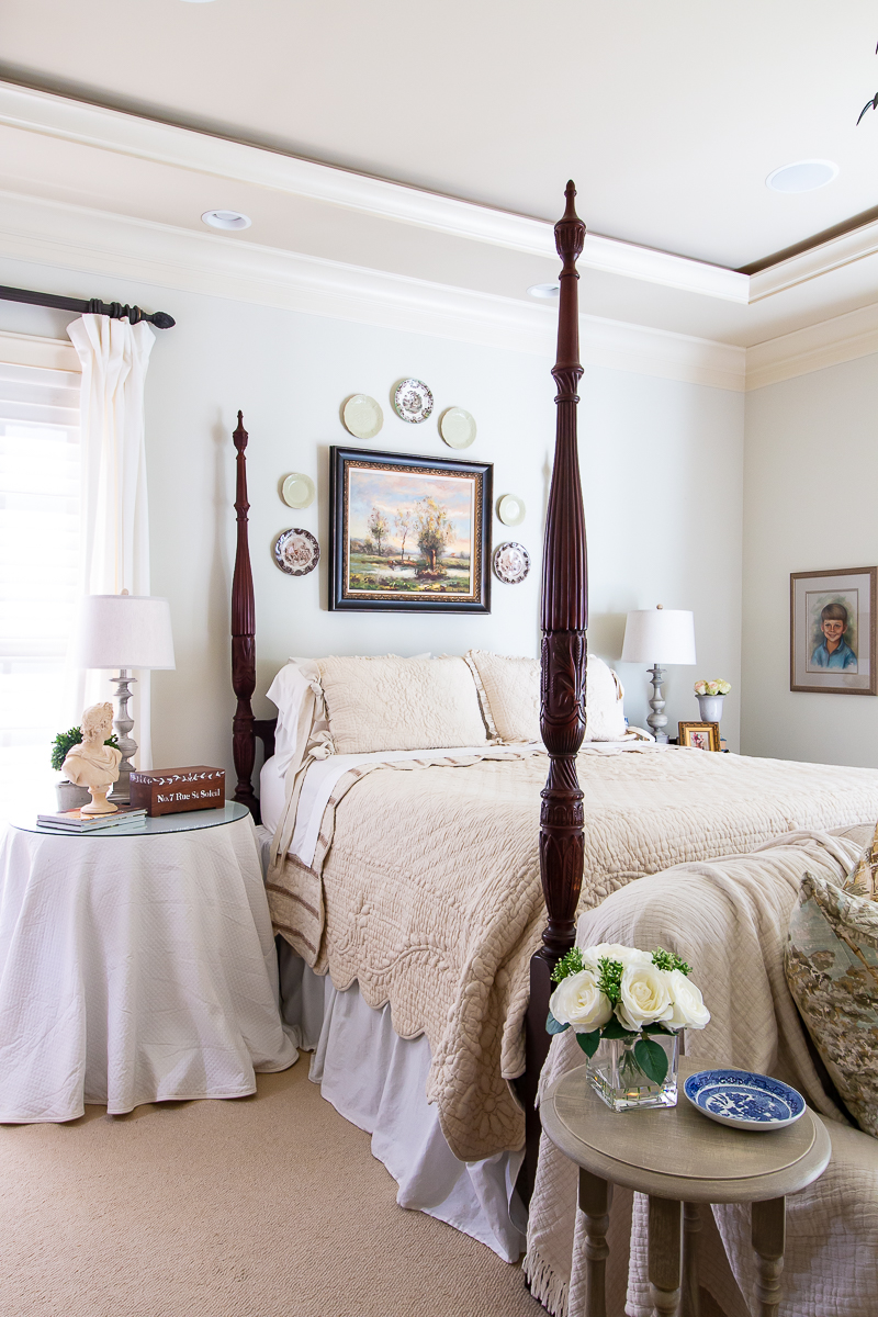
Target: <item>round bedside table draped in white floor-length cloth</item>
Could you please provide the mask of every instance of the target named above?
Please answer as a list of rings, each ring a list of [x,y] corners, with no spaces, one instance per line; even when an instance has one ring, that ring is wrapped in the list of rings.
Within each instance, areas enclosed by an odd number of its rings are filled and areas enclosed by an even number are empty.
[[[296,1048],[249,811],[0,840],[0,1121],[244,1097]]]

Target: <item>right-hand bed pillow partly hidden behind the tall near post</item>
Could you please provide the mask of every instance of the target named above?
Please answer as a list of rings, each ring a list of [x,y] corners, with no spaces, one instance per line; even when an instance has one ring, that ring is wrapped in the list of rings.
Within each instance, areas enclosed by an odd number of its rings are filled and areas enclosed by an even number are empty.
[[[503,741],[540,740],[540,660],[512,658],[486,649],[470,649],[465,658],[479,689],[488,734]],[[588,655],[586,740],[623,739],[624,694],[612,668]]]

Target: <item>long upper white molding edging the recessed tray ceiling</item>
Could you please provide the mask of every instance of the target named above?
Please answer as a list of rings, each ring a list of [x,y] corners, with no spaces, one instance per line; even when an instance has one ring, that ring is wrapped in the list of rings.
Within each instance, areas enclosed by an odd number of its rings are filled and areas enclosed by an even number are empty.
[[[0,82],[0,124],[557,259],[546,220]],[[581,266],[746,303],[749,275],[588,233]]]

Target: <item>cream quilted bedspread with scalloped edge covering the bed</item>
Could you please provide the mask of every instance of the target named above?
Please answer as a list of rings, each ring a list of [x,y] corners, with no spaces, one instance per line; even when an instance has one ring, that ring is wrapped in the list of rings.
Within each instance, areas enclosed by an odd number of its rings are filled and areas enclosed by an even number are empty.
[[[529,959],[545,909],[537,835],[545,753],[455,765],[362,765],[337,784],[313,865],[270,874],[275,927],[338,989],[390,1002],[426,1034],[428,1097],[453,1152],[524,1142],[507,1080],[524,1069]],[[878,817],[878,772],[646,747],[579,756],[582,907],[686,860],[752,851],[778,832]]]

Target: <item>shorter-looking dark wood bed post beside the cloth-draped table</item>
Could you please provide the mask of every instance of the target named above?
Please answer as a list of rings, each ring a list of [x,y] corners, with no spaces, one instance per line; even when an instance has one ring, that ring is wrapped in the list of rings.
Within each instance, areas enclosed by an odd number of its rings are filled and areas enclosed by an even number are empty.
[[[234,799],[246,805],[254,820],[259,822],[259,801],[253,794],[253,765],[257,753],[257,738],[265,747],[265,757],[274,755],[275,718],[253,716],[253,691],[257,686],[257,608],[253,595],[253,568],[250,566],[250,545],[247,543],[247,523],[250,503],[247,502],[247,432],[244,428],[244,415],[238,412],[238,428],[232,435],[237,449],[237,481],[234,489],[234,511],[238,520],[238,543],[234,552],[234,576],[232,577],[232,689],[238,697],[238,707],[232,720],[232,755],[238,781]]]

